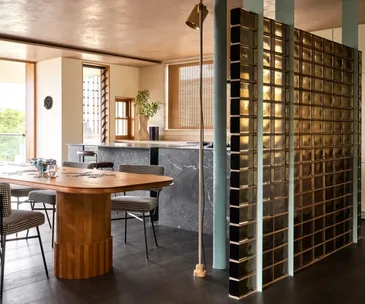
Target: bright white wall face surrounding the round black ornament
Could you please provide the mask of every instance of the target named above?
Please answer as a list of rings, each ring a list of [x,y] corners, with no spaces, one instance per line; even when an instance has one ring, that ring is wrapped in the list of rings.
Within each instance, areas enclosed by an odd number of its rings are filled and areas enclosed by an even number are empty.
[[[37,157],[62,161],[62,58],[37,63],[36,66]],[[52,96],[53,107],[46,110],[43,101]]]

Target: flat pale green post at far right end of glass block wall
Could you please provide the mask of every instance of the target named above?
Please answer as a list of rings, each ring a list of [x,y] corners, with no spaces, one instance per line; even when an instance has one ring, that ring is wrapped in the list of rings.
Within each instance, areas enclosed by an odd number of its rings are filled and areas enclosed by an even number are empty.
[[[359,168],[359,3],[342,0],[342,44],[354,52],[354,159],[353,159],[353,241],[358,241],[358,168]]]

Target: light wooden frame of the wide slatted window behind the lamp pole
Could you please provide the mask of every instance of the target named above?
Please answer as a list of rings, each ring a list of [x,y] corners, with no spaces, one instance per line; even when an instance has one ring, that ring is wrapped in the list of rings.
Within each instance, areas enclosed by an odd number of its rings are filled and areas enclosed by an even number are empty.
[[[213,60],[204,60],[203,65],[213,64]],[[167,127],[171,130],[198,130],[196,127],[181,127],[180,126],[180,68],[189,66],[199,66],[199,62],[189,62],[181,64],[171,64],[167,66],[168,77],[168,110],[167,110]],[[199,92],[198,92],[199,94]],[[213,106],[213,93],[212,93],[212,106]],[[213,113],[212,113],[213,114]],[[212,130],[212,126],[204,126],[204,129]]]

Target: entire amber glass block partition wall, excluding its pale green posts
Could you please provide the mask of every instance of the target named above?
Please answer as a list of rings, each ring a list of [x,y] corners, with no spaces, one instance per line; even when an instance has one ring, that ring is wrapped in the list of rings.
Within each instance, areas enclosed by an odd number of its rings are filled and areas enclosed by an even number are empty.
[[[229,293],[234,298],[254,292],[258,277],[263,287],[286,277],[289,259],[297,271],[353,241],[355,53],[295,30],[295,50],[290,54],[288,34],[288,26],[264,18],[263,112],[258,113],[258,18],[242,9],[231,11]],[[289,100],[290,56],[294,56],[294,100]],[[289,117],[289,104],[294,106],[294,117]],[[360,131],[361,109],[358,114]],[[257,165],[258,115],[263,118],[262,168]],[[290,119],[294,121],[293,202],[288,202]],[[360,157],[358,165],[360,208]],[[256,217],[258,170],[263,173],[262,219]],[[288,213],[289,204],[294,205],[294,214]],[[294,227],[288,225],[290,216]],[[256,240],[257,225],[262,225],[262,240]],[[288,256],[289,229],[294,233],[293,257]],[[256,267],[258,259],[262,269]]]

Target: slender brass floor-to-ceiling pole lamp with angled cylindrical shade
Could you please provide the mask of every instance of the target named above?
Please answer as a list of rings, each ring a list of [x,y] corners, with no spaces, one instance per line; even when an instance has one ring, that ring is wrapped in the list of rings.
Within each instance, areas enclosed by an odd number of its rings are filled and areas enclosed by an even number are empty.
[[[203,116],[203,22],[208,15],[207,7],[203,0],[195,5],[186,24],[194,30],[200,30],[200,60],[199,60],[199,241],[198,241],[198,264],[195,266],[194,276],[204,278],[206,271],[202,263],[203,256],[203,200],[204,200],[204,173],[203,173],[203,141],[204,141],[204,116]]]

